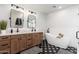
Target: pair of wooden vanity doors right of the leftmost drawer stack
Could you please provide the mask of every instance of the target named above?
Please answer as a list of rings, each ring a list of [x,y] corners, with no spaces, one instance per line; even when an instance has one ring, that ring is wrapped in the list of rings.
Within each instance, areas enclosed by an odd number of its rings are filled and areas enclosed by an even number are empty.
[[[18,53],[26,49],[26,35],[11,36],[11,53]]]

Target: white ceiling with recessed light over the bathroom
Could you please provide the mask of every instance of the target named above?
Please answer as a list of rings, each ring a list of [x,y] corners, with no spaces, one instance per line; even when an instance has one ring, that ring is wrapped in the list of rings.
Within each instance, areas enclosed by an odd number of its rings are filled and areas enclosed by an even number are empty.
[[[19,6],[25,8],[26,10],[32,10],[32,11],[42,12],[42,13],[50,13],[50,12],[54,12],[57,10],[74,6],[74,4],[19,4]],[[56,8],[53,8],[55,6]]]

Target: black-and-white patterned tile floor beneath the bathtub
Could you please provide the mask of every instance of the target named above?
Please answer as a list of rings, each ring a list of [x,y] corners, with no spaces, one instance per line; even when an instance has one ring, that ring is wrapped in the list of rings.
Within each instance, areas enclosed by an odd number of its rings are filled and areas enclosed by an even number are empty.
[[[62,49],[60,47],[48,44],[46,40],[43,40],[39,47],[42,49],[42,51],[38,54],[77,54],[77,49],[74,47]]]

